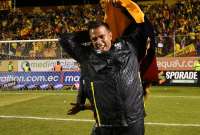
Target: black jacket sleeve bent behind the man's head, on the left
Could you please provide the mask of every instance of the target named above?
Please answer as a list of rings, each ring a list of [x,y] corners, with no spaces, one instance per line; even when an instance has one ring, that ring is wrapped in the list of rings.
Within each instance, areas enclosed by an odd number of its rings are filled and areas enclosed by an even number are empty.
[[[87,59],[87,52],[90,47],[84,46],[83,44],[89,41],[90,39],[87,31],[63,33],[59,39],[60,45],[64,51],[78,62]]]

